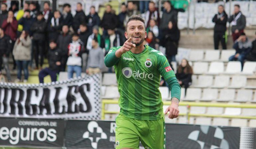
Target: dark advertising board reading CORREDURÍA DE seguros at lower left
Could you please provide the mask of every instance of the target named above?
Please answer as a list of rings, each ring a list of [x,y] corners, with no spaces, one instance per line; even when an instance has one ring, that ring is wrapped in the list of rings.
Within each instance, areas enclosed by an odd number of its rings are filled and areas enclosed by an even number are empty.
[[[54,147],[64,145],[64,120],[0,119],[0,145]]]

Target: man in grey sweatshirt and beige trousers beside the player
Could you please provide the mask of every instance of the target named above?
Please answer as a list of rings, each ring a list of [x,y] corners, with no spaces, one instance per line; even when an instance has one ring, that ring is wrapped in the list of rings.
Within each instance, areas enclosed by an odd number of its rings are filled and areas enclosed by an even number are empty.
[[[100,73],[100,69],[103,67],[104,54],[102,49],[98,46],[97,37],[92,39],[92,49],[88,56],[88,64],[86,67],[86,74],[93,75]]]

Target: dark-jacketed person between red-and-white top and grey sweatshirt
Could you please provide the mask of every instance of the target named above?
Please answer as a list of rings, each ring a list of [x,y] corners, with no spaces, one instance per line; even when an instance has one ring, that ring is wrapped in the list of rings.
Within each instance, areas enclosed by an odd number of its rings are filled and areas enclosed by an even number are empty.
[[[87,29],[86,24],[81,24],[79,27],[79,39],[81,42],[83,42],[83,45],[87,45],[88,37],[90,36],[90,31]],[[84,47],[83,46],[83,47]],[[87,56],[88,51],[85,49],[81,49],[82,51],[82,72],[86,71],[86,62],[87,62]]]

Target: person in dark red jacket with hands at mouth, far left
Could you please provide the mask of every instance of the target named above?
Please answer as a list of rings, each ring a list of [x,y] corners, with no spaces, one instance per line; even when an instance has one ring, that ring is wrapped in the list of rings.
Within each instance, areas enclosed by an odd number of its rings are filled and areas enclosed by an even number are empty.
[[[12,40],[12,44],[11,44],[11,53],[12,53],[13,46],[17,38],[17,28],[18,28],[18,21],[14,17],[13,11],[11,10],[8,11],[8,17],[3,21],[2,28],[4,30],[4,33],[10,36]],[[12,55],[12,58],[13,58],[13,61],[15,62],[13,55]],[[14,63],[13,69],[15,68],[16,68],[16,64]]]

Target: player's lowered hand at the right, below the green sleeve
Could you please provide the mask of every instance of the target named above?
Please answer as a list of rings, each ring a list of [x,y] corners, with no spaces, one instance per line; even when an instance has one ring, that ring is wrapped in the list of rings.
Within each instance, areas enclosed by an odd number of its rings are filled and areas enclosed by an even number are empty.
[[[172,98],[172,103],[171,105],[165,110],[165,114],[168,113],[169,111],[169,115],[168,115],[168,118],[169,119],[174,119],[174,118],[177,118],[179,116],[179,99],[173,97]]]

